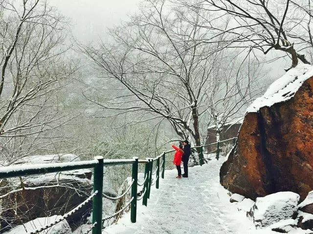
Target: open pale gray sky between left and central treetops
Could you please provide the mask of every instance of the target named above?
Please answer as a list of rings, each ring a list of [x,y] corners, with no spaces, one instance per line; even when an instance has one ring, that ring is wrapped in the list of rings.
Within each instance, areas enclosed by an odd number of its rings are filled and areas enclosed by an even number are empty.
[[[75,38],[87,42],[104,37],[107,27],[136,12],[139,0],[49,0],[49,3],[71,20]]]

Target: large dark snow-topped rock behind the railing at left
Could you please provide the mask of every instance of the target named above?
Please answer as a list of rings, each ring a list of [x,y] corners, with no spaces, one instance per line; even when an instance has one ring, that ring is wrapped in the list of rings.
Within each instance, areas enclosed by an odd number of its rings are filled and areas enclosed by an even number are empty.
[[[77,158],[77,156],[30,156],[21,161],[27,165],[36,162],[72,161],[73,158]],[[75,160],[79,160],[79,158]],[[20,161],[17,164],[20,164]],[[2,198],[1,229],[8,230],[12,226],[38,217],[66,214],[89,197],[92,191],[91,174],[88,169],[79,169],[8,180],[10,186],[25,189],[10,193]],[[91,208],[92,201],[67,217],[67,222],[71,228],[75,229],[84,223],[91,213]]]

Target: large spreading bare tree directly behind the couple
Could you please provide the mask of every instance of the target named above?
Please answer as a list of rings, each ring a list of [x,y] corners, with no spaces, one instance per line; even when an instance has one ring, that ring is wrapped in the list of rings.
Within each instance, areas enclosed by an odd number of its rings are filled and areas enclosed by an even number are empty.
[[[201,145],[200,117],[214,105],[209,96],[227,46],[223,39],[202,43],[211,35],[202,27],[207,17],[166,0],[146,1],[140,15],[111,30],[111,44],[81,46],[104,82],[92,90],[101,97],[86,98],[115,112],[101,117],[134,113],[132,124],[167,120],[181,138]],[[248,80],[242,83],[245,89]]]

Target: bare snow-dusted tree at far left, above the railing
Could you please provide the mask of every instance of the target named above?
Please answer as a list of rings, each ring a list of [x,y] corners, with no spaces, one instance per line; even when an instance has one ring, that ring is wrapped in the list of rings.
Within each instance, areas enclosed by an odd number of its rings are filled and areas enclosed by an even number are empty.
[[[64,59],[66,32],[64,19],[45,1],[0,1],[0,141],[5,164],[43,147],[39,139],[50,138],[51,144],[53,137],[46,131],[68,121],[56,101],[76,70]]]

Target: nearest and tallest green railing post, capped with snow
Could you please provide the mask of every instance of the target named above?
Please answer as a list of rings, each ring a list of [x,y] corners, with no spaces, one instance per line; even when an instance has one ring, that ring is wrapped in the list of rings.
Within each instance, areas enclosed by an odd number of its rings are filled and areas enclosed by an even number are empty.
[[[99,163],[93,170],[93,192],[98,193],[93,197],[92,203],[92,223],[97,224],[92,229],[92,234],[102,233],[102,192],[103,192],[103,156],[96,156],[94,159]]]

